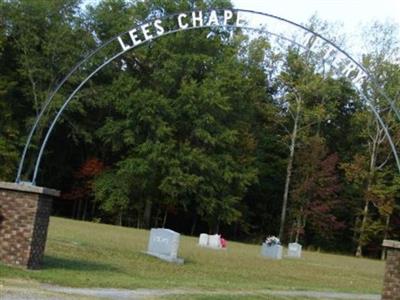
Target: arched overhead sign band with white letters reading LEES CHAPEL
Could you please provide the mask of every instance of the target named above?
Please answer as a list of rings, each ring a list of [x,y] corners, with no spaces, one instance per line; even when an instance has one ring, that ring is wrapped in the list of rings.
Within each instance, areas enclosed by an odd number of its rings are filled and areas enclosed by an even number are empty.
[[[35,168],[29,184],[35,185],[39,171],[44,149],[49,137],[68,104],[74,99],[79,90],[96,73],[106,67],[110,62],[120,59],[123,62],[123,54],[139,47],[141,45],[153,42],[163,36],[171,35],[180,31],[189,31],[195,29],[208,28],[210,35],[217,34],[217,30],[224,30],[235,33],[235,30],[251,31],[251,37],[257,34],[268,38],[273,49],[286,50],[288,47],[295,47],[300,53],[307,54],[308,57],[318,60],[319,69],[316,71],[324,76],[333,78],[345,77],[351,81],[353,87],[359,92],[361,101],[368,105],[375,116],[381,128],[385,131],[386,138],[391,146],[393,157],[396,160],[400,171],[400,161],[397,155],[396,146],[390,135],[390,128],[385,124],[381,113],[383,111],[392,111],[400,120],[399,111],[395,103],[385,95],[373,77],[353,59],[347,52],[337,46],[334,41],[328,40],[322,35],[310,30],[300,24],[277,17],[271,14],[242,9],[212,9],[207,11],[193,10],[189,12],[176,13],[172,15],[163,15],[161,12],[155,12],[144,22],[135,24],[128,31],[113,37],[107,42],[94,49],[80,62],[78,62],[67,74],[63,80],[56,86],[50,94],[43,109],[38,115],[26,141],[24,151],[20,160],[16,182],[22,182],[22,174],[25,166],[26,157],[29,155],[35,159]],[[100,63],[93,63],[93,62]],[[123,68],[121,68],[123,71]],[[73,75],[79,74],[84,78],[76,86],[73,86],[69,95],[61,102],[60,107],[52,107],[53,99],[60,89],[65,89],[66,82]],[[70,83],[68,86],[71,86]],[[363,91],[365,87],[373,89],[379,99],[370,99]],[[54,105],[53,105],[54,106]],[[53,110],[55,109],[55,112]],[[45,115],[53,115],[50,123],[45,121]],[[45,124],[41,124],[41,122]],[[31,147],[33,137],[38,134],[38,128],[45,126],[44,137],[39,137],[39,147]],[[35,149],[39,149],[35,153]],[[29,176],[30,174],[28,174]]]

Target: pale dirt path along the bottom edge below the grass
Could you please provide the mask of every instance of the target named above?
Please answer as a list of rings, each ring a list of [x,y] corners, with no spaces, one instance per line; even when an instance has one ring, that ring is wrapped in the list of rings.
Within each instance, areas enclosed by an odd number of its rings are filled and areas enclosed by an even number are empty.
[[[174,295],[241,295],[241,296],[277,296],[287,298],[309,298],[309,299],[347,299],[347,300],[379,300],[380,295],[351,294],[336,292],[315,291],[204,291],[196,289],[103,289],[103,288],[68,288],[48,284],[38,284],[28,281],[8,281],[0,285],[1,300],[92,300],[92,299],[162,299]]]

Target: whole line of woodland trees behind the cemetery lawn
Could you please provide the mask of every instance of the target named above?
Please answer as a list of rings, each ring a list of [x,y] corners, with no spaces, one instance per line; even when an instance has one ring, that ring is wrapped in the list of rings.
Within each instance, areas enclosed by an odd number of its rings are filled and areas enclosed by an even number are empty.
[[[35,117],[86,53],[150,15],[210,7],[232,5],[0,0],[0,179],[14,180]],[[335,33],[316,18],[308,26]],[[368,27],[362,62],[398,104],[396,30]],[[127,52],[81,89],[37,182],[62,190],[54,214],[243,241],[280,234],[379,256],[384,238],[400,238],[399,170],[368,103],[347,78],[321,72],[324,62],[295,47],[277,50],[268,36],[240,30],[211,32],[180,32]],[[71,78],[56,104],[80,79]],[[362,89],[397,145],[396,113],[367,82]],[[30,162],[26,178],[32,169]]]

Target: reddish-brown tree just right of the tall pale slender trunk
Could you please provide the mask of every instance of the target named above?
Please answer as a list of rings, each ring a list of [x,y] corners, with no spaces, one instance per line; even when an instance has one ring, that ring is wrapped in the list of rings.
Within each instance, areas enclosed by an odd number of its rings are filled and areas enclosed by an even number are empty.
[[[297,243],[300,235],[307,239],[307,228],[312,232],[314,240],[319,243],[329,242],[343,228],[343,223],[335,215],[337,207],[342,205],[338,197],[338,160],[337,154],[328,154],[326,145],[319,136],[308,138],[299,147],[291,190],[291,241]]]

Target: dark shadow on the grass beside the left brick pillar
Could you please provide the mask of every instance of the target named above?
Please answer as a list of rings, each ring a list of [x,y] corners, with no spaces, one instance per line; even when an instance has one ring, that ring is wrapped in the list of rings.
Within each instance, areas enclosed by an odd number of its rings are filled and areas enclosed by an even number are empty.
[[[46,255],[43,260],[42,270],[64,269],[72,271],[119,271],[118,268],[105,263],[72,259],[65,257],[56,257]]]

